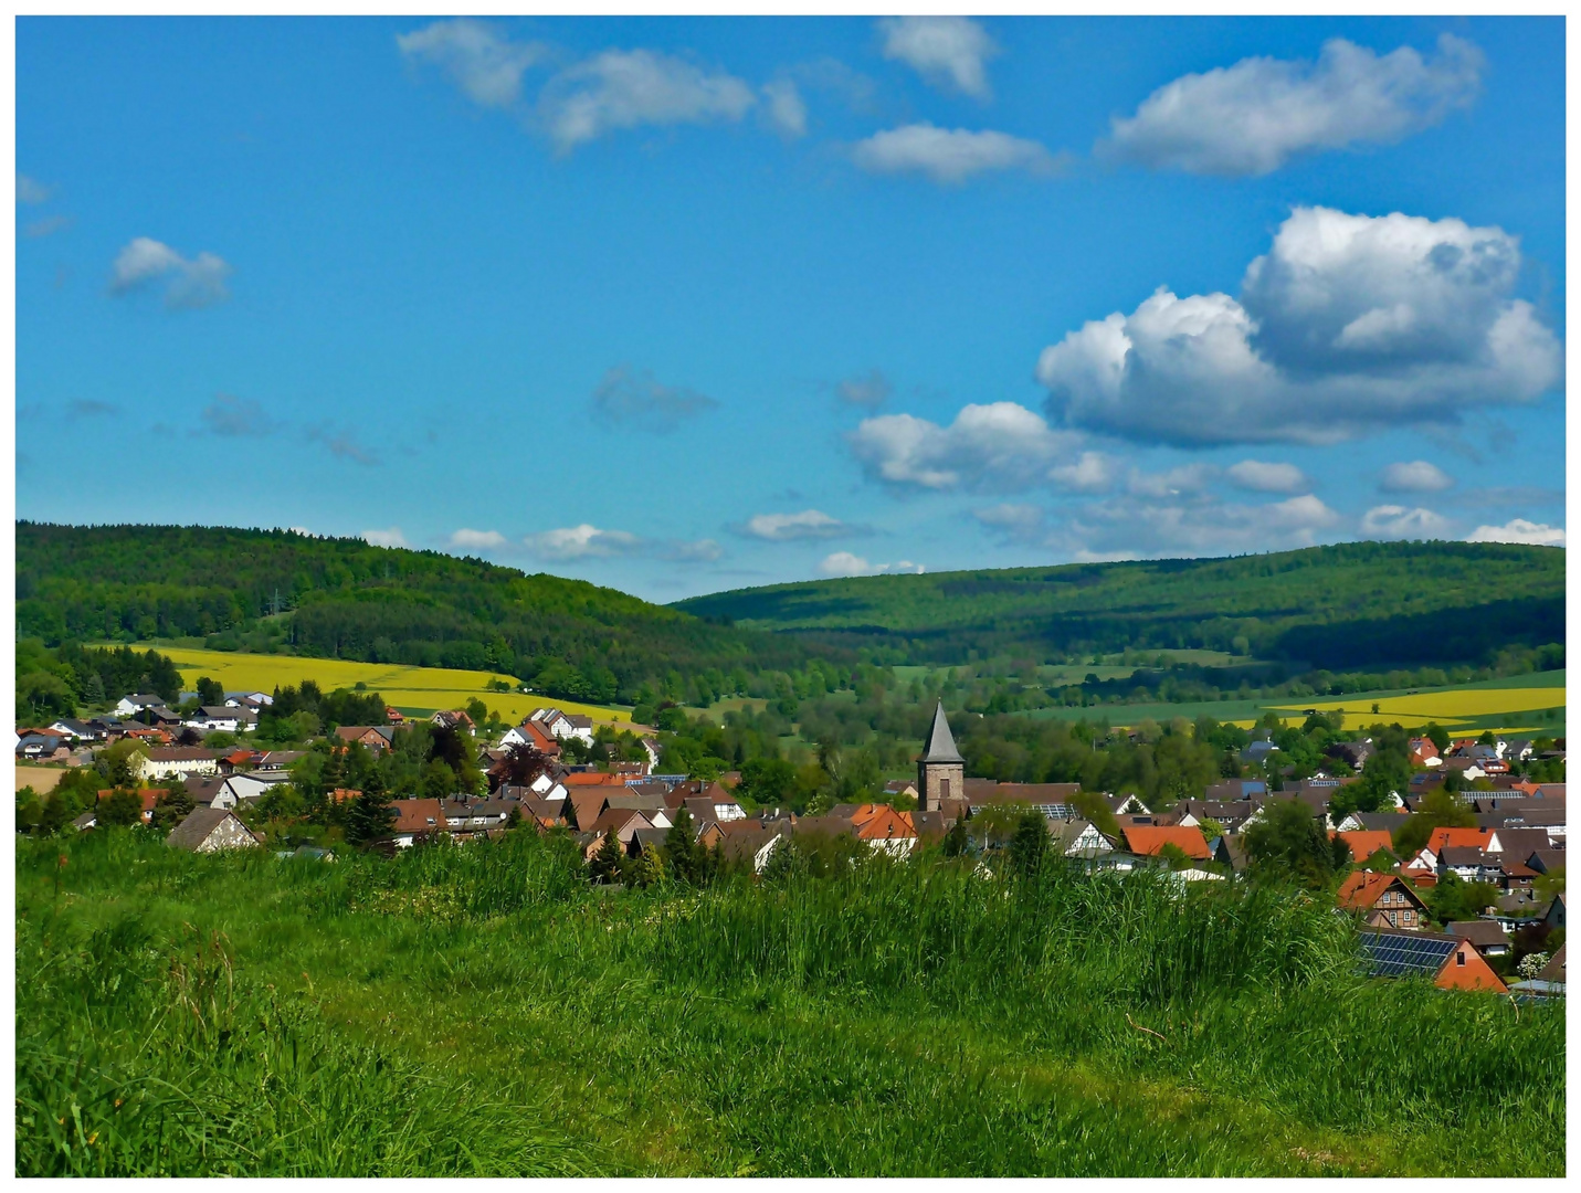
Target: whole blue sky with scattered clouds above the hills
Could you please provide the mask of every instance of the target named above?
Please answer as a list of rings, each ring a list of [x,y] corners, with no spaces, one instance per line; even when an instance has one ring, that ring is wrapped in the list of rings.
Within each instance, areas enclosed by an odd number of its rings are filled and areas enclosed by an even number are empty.
[[[16,95],[24,518],[1564,542],[1559,19],[21,19]]]

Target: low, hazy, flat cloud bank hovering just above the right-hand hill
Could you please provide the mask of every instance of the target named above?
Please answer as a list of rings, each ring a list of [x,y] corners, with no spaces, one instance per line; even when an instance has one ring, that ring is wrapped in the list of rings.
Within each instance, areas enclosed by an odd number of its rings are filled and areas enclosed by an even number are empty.
[[[1075,510],[1048,545],[1083,559],[1268,551],[1311,547],[1339,521],[1312,495],[1268,506],[1126,496]]]

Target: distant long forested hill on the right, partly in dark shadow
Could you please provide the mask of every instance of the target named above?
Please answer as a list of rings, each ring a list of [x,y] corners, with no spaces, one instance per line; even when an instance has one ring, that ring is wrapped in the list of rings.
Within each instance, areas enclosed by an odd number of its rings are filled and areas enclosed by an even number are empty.
[[[1565,640],[1554,547],[1355,542],[1230,559],[874,575],[745,588],[675,608],[938,662],[1126,646],[1312,667],[1491,662]]]

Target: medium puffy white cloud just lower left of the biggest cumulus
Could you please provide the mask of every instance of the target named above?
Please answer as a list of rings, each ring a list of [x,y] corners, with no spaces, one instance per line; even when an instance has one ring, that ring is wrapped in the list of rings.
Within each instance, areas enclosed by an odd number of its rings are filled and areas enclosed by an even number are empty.
[[[1080,442],[1013,401],[966,406],[949,427],[912,414],[882,414],[865,419],[846,438],[876,480],[982,491],[1042,484]]]

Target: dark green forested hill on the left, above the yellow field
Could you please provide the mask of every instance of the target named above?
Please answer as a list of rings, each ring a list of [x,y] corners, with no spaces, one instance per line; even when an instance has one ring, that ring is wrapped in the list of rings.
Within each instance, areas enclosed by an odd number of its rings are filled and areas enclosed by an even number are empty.
[[[598,702],[667,676],[683,691],[711,676],[719,691],[723,673],[789,670],[808,654],[580,580],[280,529],[19,521],[16,597],[17,637],[47,645],[204,638],[495,670]]]

